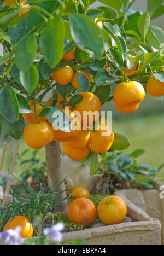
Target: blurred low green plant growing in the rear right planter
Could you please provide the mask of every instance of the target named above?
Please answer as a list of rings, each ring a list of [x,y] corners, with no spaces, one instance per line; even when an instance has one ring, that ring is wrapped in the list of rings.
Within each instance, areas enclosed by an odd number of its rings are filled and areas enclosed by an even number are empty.
[[[143,149],[126,155],[122,155],[122,152],[112,152],[103,158],[95,174],[97,192],[113,194],[122,188],[152,189],[155,179],[164,181],[164,165],[151,169],[147,164],[138,164],[137,158],[144,152]]]

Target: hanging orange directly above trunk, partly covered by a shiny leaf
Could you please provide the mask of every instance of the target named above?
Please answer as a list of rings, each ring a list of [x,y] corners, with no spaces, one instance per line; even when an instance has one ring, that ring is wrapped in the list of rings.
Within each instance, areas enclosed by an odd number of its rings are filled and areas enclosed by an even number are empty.
[[[54,141],[57,142],[71,141],[71,139],[78,135],[81,127],[80,120],[77,118],[77,115],[74,112],[71,112],[69,110],[65,111],[65,109],[62,109],[62,111],[66,113],[67,117],[71,122],[75,121],[75,129],[73,127],[73,129],[69,132],[54,129]]]

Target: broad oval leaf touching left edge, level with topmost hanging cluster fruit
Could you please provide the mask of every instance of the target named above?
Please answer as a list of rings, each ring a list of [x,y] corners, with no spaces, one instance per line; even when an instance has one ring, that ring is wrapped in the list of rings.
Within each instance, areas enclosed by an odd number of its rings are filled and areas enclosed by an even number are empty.
[[[10,123],[19,119],[19,104],[15,91],[8,85],[3,86],[0,91],[0,113]]]

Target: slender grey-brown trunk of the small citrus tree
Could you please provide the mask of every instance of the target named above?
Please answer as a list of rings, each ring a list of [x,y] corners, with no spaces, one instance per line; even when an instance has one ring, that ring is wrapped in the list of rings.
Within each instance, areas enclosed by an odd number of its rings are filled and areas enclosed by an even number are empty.
[[[63,181],[61,173],[61,147],[60,143],[52,141],[46,147],[46,166],[50,183],[53,185],[55,182],[60,183]],[[65,190],[65,182],[58,187],[58,192]],[[56,197],[56,201],[60,201],[66,197],[66,192],[61,193]],[[55,212],[67,212],[67,200],[64,200],[55,207]]]

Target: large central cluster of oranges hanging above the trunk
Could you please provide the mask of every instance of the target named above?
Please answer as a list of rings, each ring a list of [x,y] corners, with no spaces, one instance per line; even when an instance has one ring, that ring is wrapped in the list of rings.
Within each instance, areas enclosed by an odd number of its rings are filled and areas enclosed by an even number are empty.
[[[61,108],[63,112],[68,115],[70,121],[76,120],[76,127],[69,132],[56,130],[53,126],[46,120],[45,117],[38,117],[42,111],[42,104],[36,104],[37,112],[37,122],[35,124],[35,115],[33,113],[22,114],[24,119],[28,122],[28,125],[24,130],[24,139],[27,145],[31,148],[41,148],[51,141],[62,142],[63,152],[74,160],[82,160],[86,158],[90,151],[96,153],[105,153],[112,146],[114,140],[114,134],[111,131],[108,136],[103,136],[103,132],[110,131],[110,126],[104,118],[101,119],[100,123],[97,125],[95,131],[87,130],[87,126],[90,125],[90,119],[83,120],[83,112],[90,111],[94,113],[96,111],[97,116],[93,115],[92,122],[99,120],[99,113],[101,110],[101,102],[99,98],[91,94],[90,92],[81,92],[83,99],[81,102],[75,105],[74,111],[63,109],[63,104],[60,104],[60,100],[63,98],[58,95],[58,101],[56,107]],[[69,102],[69,99],[67,99]],[[49,105],[51,98],[46,103]],[[30,101],[31,110],[34,112],[34,103]],[[72,108],[71,108],[72,109]],[[80,118],[78,117],[78,114]],[[81,120],[80,120],[81,119]],[[83,130],[83,126],[86,127]],[[81,128],[82,127],[82,128]]]

